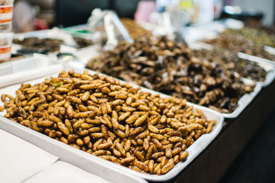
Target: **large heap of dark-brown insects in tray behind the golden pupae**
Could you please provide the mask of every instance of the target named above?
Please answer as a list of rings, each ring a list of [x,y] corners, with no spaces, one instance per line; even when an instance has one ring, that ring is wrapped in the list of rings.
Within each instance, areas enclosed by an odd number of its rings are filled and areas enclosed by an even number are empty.
[[[254,89],[234,71],[200,60],[186,45],[166,37],[140,36],[133,44],[120,42],[89,61],[87,68],[225,113]]]

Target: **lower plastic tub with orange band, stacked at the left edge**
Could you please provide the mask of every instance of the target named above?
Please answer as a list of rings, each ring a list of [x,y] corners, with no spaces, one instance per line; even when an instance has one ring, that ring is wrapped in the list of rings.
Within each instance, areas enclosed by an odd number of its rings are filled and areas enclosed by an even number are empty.
[[[10,59],[12,37],[12,32],[0,32],[0,63]]]

